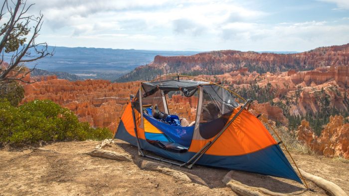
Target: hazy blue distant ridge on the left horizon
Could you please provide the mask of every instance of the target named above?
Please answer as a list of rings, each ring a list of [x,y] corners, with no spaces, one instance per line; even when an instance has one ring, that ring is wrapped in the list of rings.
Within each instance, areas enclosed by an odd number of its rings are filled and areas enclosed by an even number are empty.
[[[53,47],[48,50],[55,53],[52,57],[45,57],[35,62],[28,62],[25,66],[50,72],[67,72],[77,74],[82,79],[107,79],[116,78],[132,71],[139,65],[153,61],[156,55],[178,56],[197,54],[195,51],[153,51],[136,49],[111,49],[87,47]],[[32,51],[34,53],[34,51]],[[11,53],[4,54],[4,60],[9,62]]]

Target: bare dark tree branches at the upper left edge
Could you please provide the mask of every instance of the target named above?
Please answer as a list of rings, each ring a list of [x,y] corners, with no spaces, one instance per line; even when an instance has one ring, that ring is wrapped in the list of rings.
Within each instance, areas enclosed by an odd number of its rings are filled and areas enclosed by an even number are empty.
[[[42,27],[43,14],[40,12],[38,16],[27,15],[27,11],[33,5],[28,5],[23,0],[5,0],[1,5],[0,23],[3,23],[3,25],[0,26],[0,35],[3,35],[3,37],[0,40],[0,64],[4,62],[4,53],[8,53],[11,59],[7,67],[0,69],[0,82],[18,80],[32,83],[23,79],[35,69],[36,65],[29,71],[22,73],[23,63],[36,61],[54,54],[54,49],[48,51],[46,42],[35,42]],[[8,18],[8,20],[2,21],[5,18]],[[32,24],[34,25],[30,27]],[[28,34],[30,35],[29,37],[27,36]],[[20,74],[22,75],[19,76]]]

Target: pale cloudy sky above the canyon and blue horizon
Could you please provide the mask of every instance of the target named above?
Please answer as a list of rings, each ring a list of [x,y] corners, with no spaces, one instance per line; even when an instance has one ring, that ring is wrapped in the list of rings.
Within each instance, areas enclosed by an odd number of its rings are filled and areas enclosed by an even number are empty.
[[[147,50],[307,51],[349,43],[349,0],[28,0],[38,41]]]

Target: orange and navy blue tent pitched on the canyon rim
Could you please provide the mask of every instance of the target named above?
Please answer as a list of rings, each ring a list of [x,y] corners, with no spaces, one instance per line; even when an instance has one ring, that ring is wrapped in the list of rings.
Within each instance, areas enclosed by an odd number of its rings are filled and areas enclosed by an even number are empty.
[[[196,97],[193,126],[176,126],[153,116],[152,107],[157,104],[160,112],[176,117],[168,105],[175,93]],[[260,115],[249,111],[251,100],[242,99],[217,83],[196,77],[170,75],[142,82],[125,106],[114,138],[138,146],[141,156],[180,167],[198,164],[303,184],[281,150],[281,142],[264,127]],[[143,150],[165,159],[146,155]]]

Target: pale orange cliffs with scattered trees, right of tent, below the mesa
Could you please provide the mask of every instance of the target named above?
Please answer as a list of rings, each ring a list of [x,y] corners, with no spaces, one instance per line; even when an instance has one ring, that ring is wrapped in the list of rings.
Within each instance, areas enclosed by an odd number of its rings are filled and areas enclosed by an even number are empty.
[[[269,120],[283,124],[287,124],[284,114],[306,116],[315,115],[325,107],[340,111],[348,111],[349,107],[349,66],[263,74],[237,70],[199,77],[221,82],[245,99],[258,100],[253,104],[260,112]],[[262,99],[265,94],[270,95],[269,99]]]

